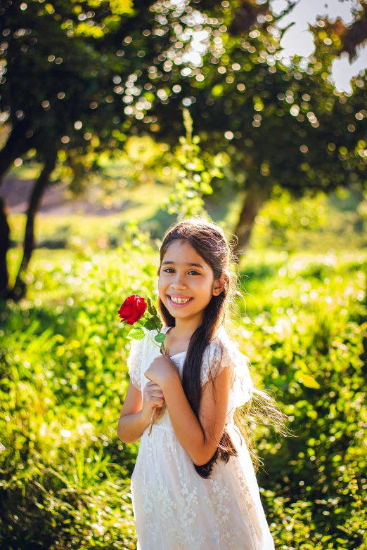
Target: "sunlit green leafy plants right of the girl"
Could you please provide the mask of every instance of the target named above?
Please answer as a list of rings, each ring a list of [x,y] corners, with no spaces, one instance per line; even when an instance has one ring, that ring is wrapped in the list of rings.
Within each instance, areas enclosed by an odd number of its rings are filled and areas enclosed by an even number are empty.
[[[282,257],[250,277],[239,327],[296,436],[259,435],[269,518],[282,548],[365,549],[366,254]]]

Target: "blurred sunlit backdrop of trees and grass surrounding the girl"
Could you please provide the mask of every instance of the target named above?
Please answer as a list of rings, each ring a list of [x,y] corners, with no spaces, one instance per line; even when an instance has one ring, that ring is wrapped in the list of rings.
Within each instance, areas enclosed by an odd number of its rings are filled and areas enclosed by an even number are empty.
[[[0,546],[136,549],[116,428],[160,240],[236,235],[277,549],[366,550],[367,4],[0,6]],[[157,506],[160,495],[156,495]]]

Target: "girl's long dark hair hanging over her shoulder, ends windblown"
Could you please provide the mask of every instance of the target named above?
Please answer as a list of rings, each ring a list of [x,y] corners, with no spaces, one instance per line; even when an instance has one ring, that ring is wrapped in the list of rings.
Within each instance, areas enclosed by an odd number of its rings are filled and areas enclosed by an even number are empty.
[[[162,260],[166,254],[167,248],[170,244],[172,244],[172,242],[174,242],[174,240],[177,239],[185,240],[191,244],[195,251],[197,251],[205,262],[212,268],[214,280],[218,280],[223,277],[225,282],[224,290],[218,296],[212,296],[210,299],[210,302],[207,304],[203,313],[202,324],[195,330],[195,332],[193,332],[191,336],[182,373],[182,387],[184,388],[186,398],[202,428],[199,417],[200,400],[202,397],[200,382],[202,357],[205,349],[217,334],[219,327],[221,327],[221,325],[226,326],[226,324],[229,324],[227,322],[228,312],[231,306],[233,306],[236,294],[239,294],[237,291],[238,275],[235,270],[238,257],[233,254],[233,247],[236,244],[236,237],[233,242],[228,242],[220,225],[212,221],[207,221],[207,219],[203,216],[193,216],[192,218],[188,218],[184,221],[174,223],[174,225],[167,229],[162,239],[162,245],[160,247],[160,265],[157,270],[158,276],[160,274]],[[159,313],[164,320],[165,325],[174,327],[176,320],[169,313],[169,310],[166,308],[159,296],[157,304]],[[212,387],[214,390],[214,381],[211,374],[209,375],[209,378],[212,380]],[[265,416],[266,420],[268,420],[266,424],[276,424],[276,426],[283,428],[283,416],[285,417],[285,415],[278,410],[276,402],[264,391],[255,389],[255,393],[261,395],[263,400],[271,402],[271,407],[267,407],[267,409],[265,407],[265,414],[260,412],[257,413],[257,416]],[[264,409],[262,405],[260,405],[260,408]],[[237,411],[238,409],[235,412],[234,420],[246,440],[255,469],[257,469],[258,459],[250,438],[250,432],[244,418],[241,417],[241,414],[236,414]],[[246,407],[246,412],[250,412],[248,405]],[[205,440],[206,436],[203,428],[202,433]],[[214,463],[217,459],[227,463],[231,456],[237,457],[238,452],[236,447],[233,445],[231,436],[229,436],[228,431],[224,428],[221,440],[218,442],[217,449],[210,461],[202,466],[198,466],[194,463],[193,465],[199,476],[202,478],[210,478]]]

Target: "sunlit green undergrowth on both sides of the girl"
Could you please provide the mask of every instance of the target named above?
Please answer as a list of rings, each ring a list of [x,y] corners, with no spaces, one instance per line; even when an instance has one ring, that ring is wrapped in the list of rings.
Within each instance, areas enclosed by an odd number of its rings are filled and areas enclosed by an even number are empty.
[[[116,312],[122,296],[155,299],[157,253],[136,234],[63,254],[37,251],[28,299],[1,313],[0,545],[132,550],[138,445],[116,436],[130,346]],[[295,435],[254,427],[277,548],[366,550],[366,266],[361,251],[240,264],[233,336]]]

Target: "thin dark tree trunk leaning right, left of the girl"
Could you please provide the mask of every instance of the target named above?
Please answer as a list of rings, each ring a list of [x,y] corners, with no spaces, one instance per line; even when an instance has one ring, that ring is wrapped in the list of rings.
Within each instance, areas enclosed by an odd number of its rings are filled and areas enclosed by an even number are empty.
[[[41,202],[42,195],[44,194],[44,190],[49,183],[51,172],[55,168],[56,155],[56,151],[49,152],[46,162],[44,163],[44,169],[41,171],[41,174],[32,189],[30,204],[27,210],[27,223],[25,225],[22,263],[20,263],[18,275],[11,291],[11,298],[15,301],[18,301],[25,296],[25,273],[34,249],[34,219],[39,209],[39,204]]]

